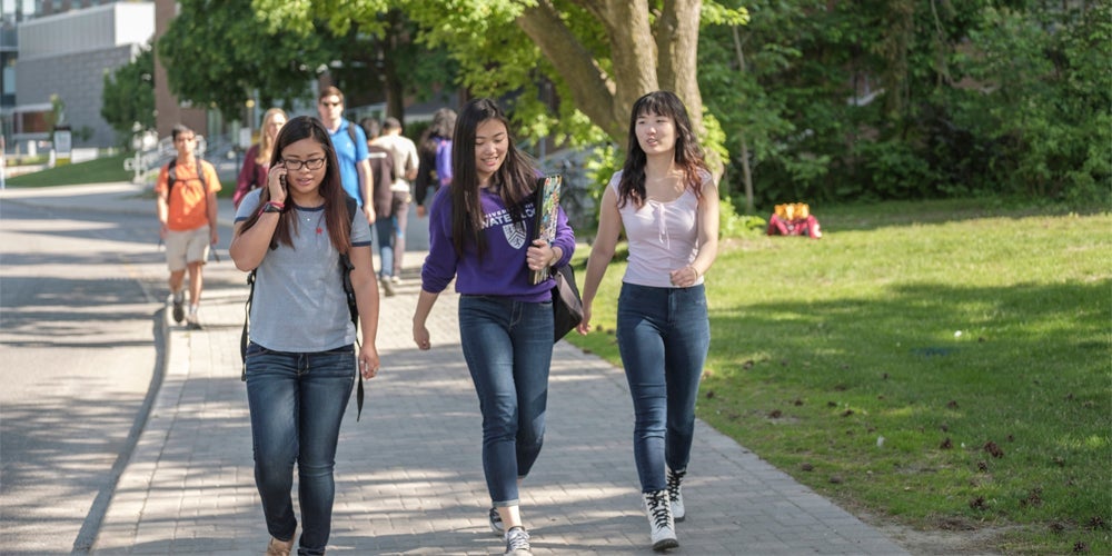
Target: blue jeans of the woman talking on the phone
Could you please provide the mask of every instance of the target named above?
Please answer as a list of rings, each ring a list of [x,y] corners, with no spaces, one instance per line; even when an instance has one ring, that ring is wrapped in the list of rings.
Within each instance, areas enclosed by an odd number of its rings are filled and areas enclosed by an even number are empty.
[[[336,441],[355,384],[355,348],[290,354],[247,347],[255,485],[267,530],[279,540],[297,528],[290,489],[297,463],[300,555],[325,554],[331,533]]]

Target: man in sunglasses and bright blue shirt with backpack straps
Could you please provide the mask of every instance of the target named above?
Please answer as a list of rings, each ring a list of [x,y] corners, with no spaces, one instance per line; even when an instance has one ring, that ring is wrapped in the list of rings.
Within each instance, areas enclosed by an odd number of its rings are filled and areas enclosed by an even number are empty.
[[[367,136],[359,126],[344,118],[344,93],[336,87],[329,86],[320,90],[317,97],[317,112],[320,115],[320,122],[331,137],[344,190],[359,203],[367,215],[367,221],[374,225],[375,208],[371,202],[374,199],[371,191],[375,182],[370,175]]]

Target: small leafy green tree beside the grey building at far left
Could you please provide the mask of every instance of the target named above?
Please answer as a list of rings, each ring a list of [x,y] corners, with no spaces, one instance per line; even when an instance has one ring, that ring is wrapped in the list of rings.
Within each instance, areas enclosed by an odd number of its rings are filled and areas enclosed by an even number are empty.
[[[130,148],[133,126],[155,128],[155,53],[142,48],[130,63],[105,72],[100,117],[116,130],[119,145]]]

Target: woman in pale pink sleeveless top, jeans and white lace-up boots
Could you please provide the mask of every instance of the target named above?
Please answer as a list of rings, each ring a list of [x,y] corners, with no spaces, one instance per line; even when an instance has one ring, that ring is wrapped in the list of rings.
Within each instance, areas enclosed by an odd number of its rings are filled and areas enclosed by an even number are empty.
[[[653,548],[679,545],[679,485],[695,429],[695,398],[711,346],[703,275],[718,251],[718,188],[687,109],[656,91],[637,99],[625,166],[610,178],[583,285],[583,322],[625,229],[629,265],[618,297],[617,340],[633,395],[634,459]]]

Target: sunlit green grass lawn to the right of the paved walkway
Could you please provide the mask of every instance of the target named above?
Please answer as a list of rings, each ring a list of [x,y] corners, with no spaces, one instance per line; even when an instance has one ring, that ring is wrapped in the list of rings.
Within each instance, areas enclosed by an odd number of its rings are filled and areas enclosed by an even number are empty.
[[[987,548],[1011,554],[1112,554],[1112,216],[813,210],[821,240],[724,241],[698,416],[846,508],[996,528]],[[569,336],[616,365],[624,270],[602,334]]]

